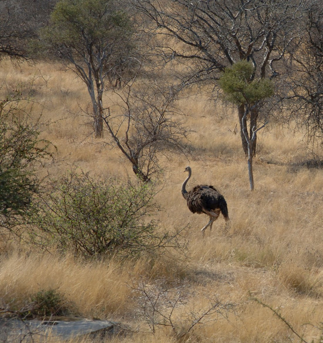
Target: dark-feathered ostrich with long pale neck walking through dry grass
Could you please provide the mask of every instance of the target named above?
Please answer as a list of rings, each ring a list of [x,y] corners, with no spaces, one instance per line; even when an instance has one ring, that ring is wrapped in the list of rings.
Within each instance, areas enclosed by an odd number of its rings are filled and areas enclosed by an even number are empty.
[[[213,186],[208,186],[205,184],[197,185],[189,192],[186,190],[186,184],[188,183],[191,175],[192,169],[187,166],[184,172],[188,171],[189,176],[183,182],[181,186],[181,194],[186,199],[189,210],[193,213],[205,213],[209,215],[210,221],[203,227],[202,234],[204,237],[205,229],[210,226],[210,235],[212,231],[212,224],[218,218],[220,212],[225,219],[225,231],[228,228],[228,212],[226,201],[222,194],[220,194]]]

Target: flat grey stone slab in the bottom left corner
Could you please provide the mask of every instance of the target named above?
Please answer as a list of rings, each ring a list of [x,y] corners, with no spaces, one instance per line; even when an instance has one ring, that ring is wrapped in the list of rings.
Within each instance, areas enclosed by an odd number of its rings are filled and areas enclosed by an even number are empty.
[[[117,328],[118,327],[118,328]],[[44,338],[51,335],[61,339],[97,333],[107,334],[119,332],[117,323],[108,320],[2,320],[0,321],[0,340],[3,338],[18,338],[30,332],[30,336],[40,335]],[[6,336],[5,336],[6,335]]]

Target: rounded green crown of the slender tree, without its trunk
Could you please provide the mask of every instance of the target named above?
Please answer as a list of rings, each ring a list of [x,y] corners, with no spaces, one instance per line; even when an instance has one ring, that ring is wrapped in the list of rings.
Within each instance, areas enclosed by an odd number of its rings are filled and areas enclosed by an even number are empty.
[[[269,79],[252,80],[252,78],[253,66],[247,61],[240,61],[230,68],[225,68],[224,74],[219,79],[224,99],[237,105],[254,105],[273,94],[274,86]]]

